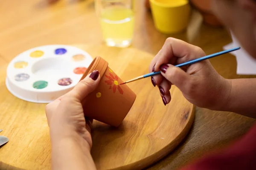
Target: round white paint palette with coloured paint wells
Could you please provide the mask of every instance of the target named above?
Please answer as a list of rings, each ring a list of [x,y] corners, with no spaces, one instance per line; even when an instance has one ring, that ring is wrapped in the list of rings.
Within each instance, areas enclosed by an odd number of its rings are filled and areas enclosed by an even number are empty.
[[[45,45],[17,55],[9,63],[6,87],[16,97],[49,103],[70,91],[93,58],[69,45]]]

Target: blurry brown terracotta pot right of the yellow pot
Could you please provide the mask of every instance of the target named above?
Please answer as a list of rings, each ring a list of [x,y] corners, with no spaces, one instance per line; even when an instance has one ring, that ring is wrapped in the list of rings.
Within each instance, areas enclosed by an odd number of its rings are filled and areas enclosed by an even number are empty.
[[[222,26],[222,23],[218,20],[218,18],[212,14],[210,0],[190,0],[192,6],[198,9],[201,12],[204,23],[210,26]]]

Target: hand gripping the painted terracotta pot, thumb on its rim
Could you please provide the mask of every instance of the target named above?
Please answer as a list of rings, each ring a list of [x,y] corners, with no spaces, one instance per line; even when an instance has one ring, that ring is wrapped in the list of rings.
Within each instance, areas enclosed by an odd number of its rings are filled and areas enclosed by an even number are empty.
[[[46,106],[45,111],[52,140],[76,135],[84,139],[88,149],[92,147],[90,126],[93,120],[84,118],[82,102],[95,90],[99,80],[99,72],[93,71],[73,90]]]

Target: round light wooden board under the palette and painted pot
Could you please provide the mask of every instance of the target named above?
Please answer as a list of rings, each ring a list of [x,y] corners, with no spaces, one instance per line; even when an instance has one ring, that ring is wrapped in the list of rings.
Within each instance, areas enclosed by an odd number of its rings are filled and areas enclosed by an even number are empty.
[[[92,57],[101,56],[125,81],[148,73],[154,57],[134,48],[105,45],[75,45]],[[8,63],[0,65],[6,68]],[[0,147],[0,169],[50,169],[51,146],[44,113],[45,104],[17,99],[5,87],[0,72],[0,135],[9,142]],[[93,159],[98,170],[136,170],[170,153],[186,136],[195,117],[195,107],[172,86],[172,101],[163,105],[160,92],[146,78],[128,86],[137,94],[133,107],[118,128],[93,122]]]

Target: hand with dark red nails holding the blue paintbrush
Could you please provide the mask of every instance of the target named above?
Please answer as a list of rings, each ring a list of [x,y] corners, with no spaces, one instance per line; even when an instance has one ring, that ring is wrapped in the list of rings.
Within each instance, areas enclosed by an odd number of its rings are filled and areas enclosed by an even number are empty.
[[[165,105],[171,101],[169,90],[172,85],[177,86],[185,98],[198,107],[217,110],[227,102],[231,82],[221,77],[209,60],[185,68],[174,66],[204,56],[204,51],[195,45],[175,38],[166,40],[149,67],[150,72],[161,71],[160,75],[151,77],[151,81],[158,86]]]

